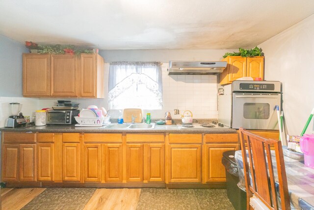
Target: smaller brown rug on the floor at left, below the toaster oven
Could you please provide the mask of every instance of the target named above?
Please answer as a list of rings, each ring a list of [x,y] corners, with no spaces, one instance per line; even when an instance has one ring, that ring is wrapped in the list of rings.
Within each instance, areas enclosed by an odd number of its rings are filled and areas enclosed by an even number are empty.
[[[22,210],[82,210],[95,188],[47,188]]]

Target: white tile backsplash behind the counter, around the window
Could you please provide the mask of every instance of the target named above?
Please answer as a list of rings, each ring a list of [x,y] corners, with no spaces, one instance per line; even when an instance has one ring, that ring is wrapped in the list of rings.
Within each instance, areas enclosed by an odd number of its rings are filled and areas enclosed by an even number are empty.
[[[217,76],[216,75],[168,75],[169,64],[162,64],[162,110],[143,110],[143,116],[150,112],[152,119],[163,119],[166,111],[171,112],[173,119],[181,118],[184,110],[193,113],[194,119],[217,118]],[[109,77],[109,63],[105,63],[105,82]],[[108,86],[105,85],[105,93]],[[42,108],[55,106],[57,100],[72,100],[80,103],[79,109],[88,105],[96,105],[108,109],[108,98],[25,98],[25,97],[0,97],[0,127],[4,126],[5,119],[9,116],[9,103],[23,104],[24,116],[33,117],[35,111]],[[132,108],[132,107],[130,107]],[[180,115],[174,115],[174,109],[180,110]],[[115,118],[115,116],[112,116]],[[117,118],[117,117],[116,117]]]

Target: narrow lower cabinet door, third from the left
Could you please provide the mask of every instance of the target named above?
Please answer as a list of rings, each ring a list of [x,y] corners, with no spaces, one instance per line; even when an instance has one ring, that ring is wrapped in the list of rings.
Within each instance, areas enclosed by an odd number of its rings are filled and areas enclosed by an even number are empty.
[[[54,144],[37,144],[39,181],[54,181]]]

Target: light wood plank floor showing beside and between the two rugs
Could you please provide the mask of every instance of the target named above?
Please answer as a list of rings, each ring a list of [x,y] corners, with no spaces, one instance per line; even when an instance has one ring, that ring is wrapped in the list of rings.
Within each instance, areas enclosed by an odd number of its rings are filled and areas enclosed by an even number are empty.
[[[1,188],[2,210],[20,210],[46,188]],[[84,210],[135,210],[141,189],[97,189]]]

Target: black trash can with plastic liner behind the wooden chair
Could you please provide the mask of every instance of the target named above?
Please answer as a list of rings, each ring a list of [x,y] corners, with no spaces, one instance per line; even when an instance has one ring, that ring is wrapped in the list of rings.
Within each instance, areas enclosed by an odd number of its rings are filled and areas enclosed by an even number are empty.
[[[235,150],[222,153],[222,164],[226,168],[227,195],[235,210],[246,210],[246,192],[237,186],[239,175],[235,162]]]

